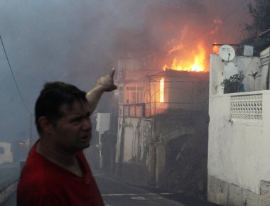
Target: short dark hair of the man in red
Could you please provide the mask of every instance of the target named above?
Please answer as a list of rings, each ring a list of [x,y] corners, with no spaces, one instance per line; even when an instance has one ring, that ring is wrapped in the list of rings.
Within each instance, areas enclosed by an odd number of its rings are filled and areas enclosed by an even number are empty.
[[[60,112],[60,107],[63,104],[68,104],[72,107],[75,101],[87,102],[85,95],[86,92],[79,90],[74,85],[69,85],[64,82],[46,83],[36,100],[35,106],[35,121],[38,134],[42,132],[38,122],[41,116],[45,116],[48,121],[56,125],[58,119],[63,115],[62,112]]]

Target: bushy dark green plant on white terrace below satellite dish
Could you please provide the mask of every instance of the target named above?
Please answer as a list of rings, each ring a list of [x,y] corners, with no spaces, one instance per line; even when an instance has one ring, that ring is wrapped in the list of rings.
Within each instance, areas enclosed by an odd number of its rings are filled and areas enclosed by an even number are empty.
[[[229,79],[223,80],[221,83],[224,86],[224,93],[234,93],[234,92],[242,92],[240,89],[240,85],[244,80],[243,71],[240,71],[238,74],[232,75]]]

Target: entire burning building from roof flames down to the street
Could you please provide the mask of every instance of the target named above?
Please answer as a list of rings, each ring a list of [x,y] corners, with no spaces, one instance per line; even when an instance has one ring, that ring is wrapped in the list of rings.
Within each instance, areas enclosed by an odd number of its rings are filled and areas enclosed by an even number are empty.
[[[119,55],[118,90],[114,92],[118,116],[112,118],[117,129],[111,136],[104,134],[100,147],[115,151],[110,155],[113,160],[107,161],[104,156],[101,167],[112,165],[114,175],[132,184],[175,188],[174,192],[183,190],[205,197],[207,54],[212,49],[205,45],[213,42],[205,38],[188,47],[183,45],[186,38],[195,35],[188,27],[180,32],[178,40],[168,35],[169,43],[162,44],[161,50],[157,46],[150,47],[154,52],[137,50]],[[106,143],[106,139],[112,141],[112,136],[114,142]]]

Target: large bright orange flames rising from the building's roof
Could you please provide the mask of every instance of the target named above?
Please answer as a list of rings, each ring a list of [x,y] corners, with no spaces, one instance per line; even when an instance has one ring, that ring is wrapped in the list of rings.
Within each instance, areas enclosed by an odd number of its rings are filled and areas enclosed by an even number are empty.
[[[175,46],[175,48],[179,48]],[[187,72],[205,72],[205,54],[206,50],[202,43],[199,43],[197,48],[191,52],[186,52],[181,56],[173,58],[173,63],[168,67],[167,65],[163,66],[163,70],[171,69],[178,71],[187,71]]]

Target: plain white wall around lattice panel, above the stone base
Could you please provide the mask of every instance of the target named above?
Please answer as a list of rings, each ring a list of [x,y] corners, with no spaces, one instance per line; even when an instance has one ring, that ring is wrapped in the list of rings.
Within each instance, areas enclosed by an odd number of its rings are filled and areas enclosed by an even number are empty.
[[[262,119],[232,119],[233,95],[262,94]],[[260,180],[270,181],[270,91],[210,95],[208,175],[259,194]]]

